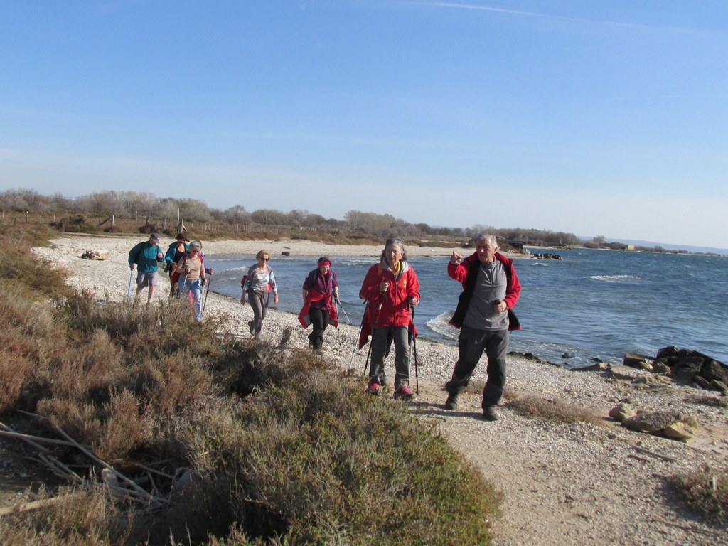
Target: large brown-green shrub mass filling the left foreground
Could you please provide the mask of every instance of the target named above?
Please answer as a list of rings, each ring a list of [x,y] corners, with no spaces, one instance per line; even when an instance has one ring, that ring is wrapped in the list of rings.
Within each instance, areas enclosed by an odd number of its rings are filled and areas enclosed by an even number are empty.
[[[407,405],[365,395],[320,355],[218,336],[223,319],[195,323],[175,301],[15,293],[0,304],[0,413],[36,411],[163,508],[98,485],[98,460],[52,445],[84,485],[0,518],[0,543],[490,542],[494,488]]]

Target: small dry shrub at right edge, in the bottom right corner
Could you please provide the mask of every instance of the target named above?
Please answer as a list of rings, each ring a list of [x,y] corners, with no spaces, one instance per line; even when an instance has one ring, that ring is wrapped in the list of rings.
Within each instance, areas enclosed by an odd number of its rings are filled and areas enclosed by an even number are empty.
[[[670,483],[692,510],[706,520],[728,528],[728,467],[673,476]]]

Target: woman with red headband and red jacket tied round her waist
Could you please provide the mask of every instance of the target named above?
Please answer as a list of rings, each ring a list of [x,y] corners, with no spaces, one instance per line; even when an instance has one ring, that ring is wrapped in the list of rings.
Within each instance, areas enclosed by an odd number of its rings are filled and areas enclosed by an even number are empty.
[[[339,301],[339,282],[336,272],[331,269],[331,259],[322,256],[318,259],[317,269],[308,274],[301,290],[304,296],[304,306],[298,314],[298,320],[304,328],[309,323],[312,332],[309,333],[309,347],[318,350],[323,345],[323,332],[331,324],[334,328],[339,326],[339,314],[336,305],[331,302]]]

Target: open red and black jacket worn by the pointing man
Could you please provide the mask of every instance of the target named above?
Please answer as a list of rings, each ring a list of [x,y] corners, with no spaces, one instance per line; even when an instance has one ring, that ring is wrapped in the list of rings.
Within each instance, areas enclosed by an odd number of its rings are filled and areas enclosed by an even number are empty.
[[[503,264],[505,274],[507,277],[507,285],[505,287],[505,301],[508,307],[508,319],[509,319],[509,330],[521,330],[521,323],[518,322],[518,318],[513,313],[512,309],[518,302],[518,296],[521,295],[521,282],[518,280],[518,275],[515,273],[515,267],[513,267],[513,260],[503,256],[501,253],[496,252],[496,260]],[[460,328],[462,320],[465,318],[467,312],[467,306],[470,305],[470,296],[472,291],[475,289],[475,278],[478,272],[478,253],[472,253],[460,264],[452,264],[448,262],[448,275],[454,280],[462,284],[462,294],[458,299],[458,304],[453,314],[450,324],[455,328]]]

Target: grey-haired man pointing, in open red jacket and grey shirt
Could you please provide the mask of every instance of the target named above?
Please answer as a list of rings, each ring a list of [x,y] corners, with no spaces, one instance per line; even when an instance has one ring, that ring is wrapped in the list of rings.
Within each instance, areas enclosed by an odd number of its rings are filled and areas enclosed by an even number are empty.
[[[481,234],[475,240],[475,253],[463,258],[453,251],[448,275],[462,284],[463,292],[450,324],[460,328],[458,360],[445,388],[445,408],[457,408],[457,397],[467,387],[475,365],[486,353],[488,379],[483,389],[483,419],[499,418],[496,406],[503,396],[506,381],[508,331],[521,325],[511,311],[521,294],[521,282],[513,260],[498,251],[494,235]]]

